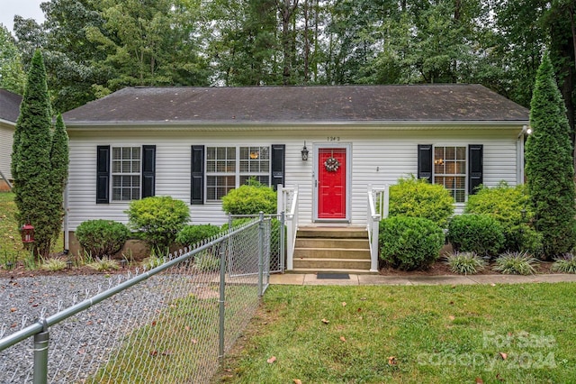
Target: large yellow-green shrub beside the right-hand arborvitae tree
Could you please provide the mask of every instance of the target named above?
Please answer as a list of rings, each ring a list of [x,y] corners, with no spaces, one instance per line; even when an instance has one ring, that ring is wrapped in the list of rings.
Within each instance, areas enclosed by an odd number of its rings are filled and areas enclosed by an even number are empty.
[[[502,181],[497,187],[482,187],[468,197],[465,214],[491,215],[501,225],[503,248],[509,251],[537,251],[539,236],[532,227],[534,211],[524,185],[509,187]]]

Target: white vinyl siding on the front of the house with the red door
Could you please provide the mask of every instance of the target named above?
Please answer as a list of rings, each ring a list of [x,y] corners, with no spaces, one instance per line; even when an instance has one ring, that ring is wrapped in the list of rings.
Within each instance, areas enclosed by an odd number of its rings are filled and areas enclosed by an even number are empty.
[[[522,125],[514,128],[473,129],[419,129],[358,128],[340,125],[312,127],[284,127],[283,130],[266,131],[260,127],[227,127],[199,132],[170,129],[147,129],[130,132],[119,127],[98,131],[81,132],[82,128],[67,125],[70,136],[70,178],[68,202],[70,230],[89,219],[110,219],[127,222],[124,211],[129,202],[95,204],[96,146],[132,147],[154,144],[156,151],[156,196],[172,196],[190,206],[192,224],[225,224],[227,216],[220,202],[190,205],[191,145],[209,147],[266,147],[285,144],[285,187],[299,188],[299,224],[312,223],[313,203],[313,151],[317,144],[329,142],[350,143],[351,162],[351,221],[353,225],[365,225],[367,190],[369,186],[383,187],[395,184],[398,178],[416,175],[418,170],[418,144],[434,146],[466,147],[483,144],[483,184],[488,187],[505,180],[509,185],[517,183],[517,140]],[[103,137],[105,140],[103,140]],[[302,160],[302,146],[310,150],[310,158]],[[263,174],[265,172],[262,172]],[[267,172],[269,174],[269,172]],[[208,172],[206,172],[208,175]],[[457,205],[456,212],[463,205]]]

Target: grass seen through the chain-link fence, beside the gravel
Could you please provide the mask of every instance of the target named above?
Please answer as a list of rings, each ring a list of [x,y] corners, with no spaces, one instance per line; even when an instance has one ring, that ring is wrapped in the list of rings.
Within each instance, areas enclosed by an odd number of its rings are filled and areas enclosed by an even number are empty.
[[[229,338],[239,333],[240,319],[249,320],[247,314],[257,306],[255,294],[253,285],[226,288],[225,332]],[[121,348],[85,382],[208,382],[218,365],[218,287],[171,300],[156,313],[153,321],[127,332]]]

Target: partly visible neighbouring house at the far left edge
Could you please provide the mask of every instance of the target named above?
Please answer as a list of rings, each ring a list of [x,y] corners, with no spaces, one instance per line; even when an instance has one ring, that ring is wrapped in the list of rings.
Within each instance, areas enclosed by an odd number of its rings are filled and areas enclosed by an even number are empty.
[[[20,103],[22,96],[0,89],[0,190],[9,189],[13,181],[10,164]]]

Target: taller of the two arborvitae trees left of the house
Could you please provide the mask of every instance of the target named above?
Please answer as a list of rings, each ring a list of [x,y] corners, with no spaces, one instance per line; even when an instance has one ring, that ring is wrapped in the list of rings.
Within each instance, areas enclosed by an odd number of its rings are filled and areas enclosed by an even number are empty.
[[[12,174],[18,223],[34,226],[33,250],[37,256],[48,255],[54,237],[51,230],[54,217],[49,215],[51,124],[46,69],[40,50],[36,50],[14,132]]]

